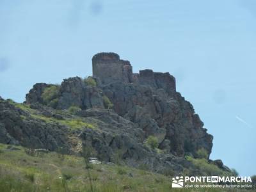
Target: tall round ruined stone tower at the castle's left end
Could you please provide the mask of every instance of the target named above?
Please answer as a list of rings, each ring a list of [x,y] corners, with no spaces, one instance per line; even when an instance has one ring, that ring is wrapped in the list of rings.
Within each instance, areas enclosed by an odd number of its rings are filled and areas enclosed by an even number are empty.
[[[102,84],[113,81],[131,83],[132,66],[129,61],[120,60],[118,54],[101,52],[92,58],[93,77]]]

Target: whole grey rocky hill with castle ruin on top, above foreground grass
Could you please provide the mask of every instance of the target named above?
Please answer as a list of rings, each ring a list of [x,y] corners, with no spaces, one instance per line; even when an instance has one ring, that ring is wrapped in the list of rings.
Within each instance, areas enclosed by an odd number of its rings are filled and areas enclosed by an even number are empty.
[[[0,142],[79,156],[164,174],[209,174],[196,166],[211,161],[211,134],[190,102],[176,92],[169,73],[132,72],[115,53],[92,58],[93,75],[59,84],[37,83],[24,104],[0,97]],[[192,160],[191,160],[192,159]]]

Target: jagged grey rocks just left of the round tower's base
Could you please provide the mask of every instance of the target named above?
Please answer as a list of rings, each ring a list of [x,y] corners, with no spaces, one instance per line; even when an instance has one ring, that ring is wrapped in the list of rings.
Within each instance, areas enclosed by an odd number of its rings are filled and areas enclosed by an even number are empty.
[[[42,95],[45,88],[56,86],[54,84],[38,83],[26,95],[26,103],[45,103]],[[58,86],[58,85],[57,85]],[[81,109],[103,108],[102,91],[96,86],[90,86],[80,77],[70,77],[64,79],[57,93],[57,99],[54,108],[68,109],[70,106],[77,106]],[[51,106],[52,107],[52,106]]]

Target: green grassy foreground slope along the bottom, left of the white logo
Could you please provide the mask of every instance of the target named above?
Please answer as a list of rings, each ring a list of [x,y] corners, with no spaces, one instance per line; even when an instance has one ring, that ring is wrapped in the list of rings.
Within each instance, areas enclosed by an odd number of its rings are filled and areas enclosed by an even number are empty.
[[[90,191],[83,158],[55,152],[36,157],[26,154],[22,147],[18,147],[20,150],[6,150],[6,147],[0,144],[1,192]],[[115,164],[94,164],[90,175],[93,191],[190,191],[171,189],[170,178],[164,175]]]

